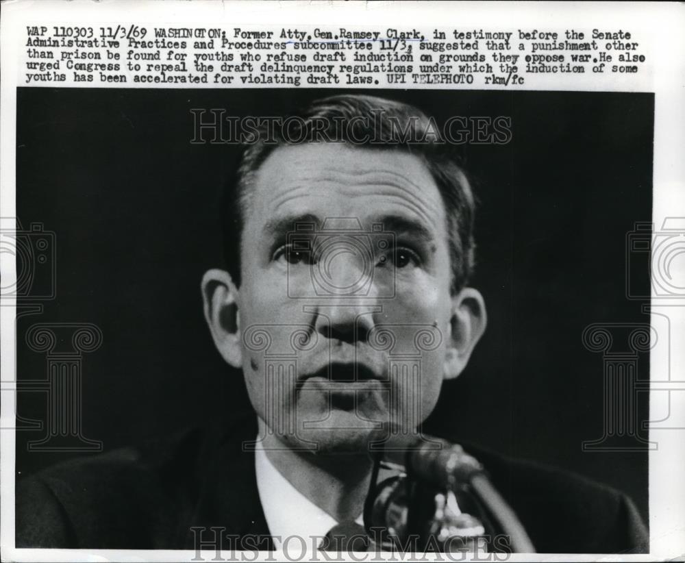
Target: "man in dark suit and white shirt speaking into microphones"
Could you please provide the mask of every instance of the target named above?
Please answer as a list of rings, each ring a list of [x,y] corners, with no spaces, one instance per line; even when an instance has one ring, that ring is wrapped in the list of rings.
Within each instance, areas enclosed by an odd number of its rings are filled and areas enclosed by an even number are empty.
[[[486,328],[468,286],[473,194],[434,122],[342,95],[251,140],[225,194],[227,270],[208,271],[202,293],[256,420],[27,479],[18,547],[321,546],[363,523],[379,429],[421,438],[469,362]],[[647,551],[619,492],[469,451],[537,551]]]

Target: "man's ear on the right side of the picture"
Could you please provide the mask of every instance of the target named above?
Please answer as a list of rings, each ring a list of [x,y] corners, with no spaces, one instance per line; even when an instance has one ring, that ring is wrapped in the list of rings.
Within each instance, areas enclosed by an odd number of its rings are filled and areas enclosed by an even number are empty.
[[[452,297],[449,338],[445,354],[445,379],[457,377],[469,363],[471,352],[485,332],[488,316],[480,292],[464,288]]]

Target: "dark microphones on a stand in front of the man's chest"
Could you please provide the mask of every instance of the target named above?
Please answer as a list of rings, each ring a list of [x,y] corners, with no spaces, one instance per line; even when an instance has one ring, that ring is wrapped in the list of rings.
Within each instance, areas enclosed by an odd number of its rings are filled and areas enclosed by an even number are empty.
[[[525,528],[490,483],[485,468],[460,445],[424,434],[386,431],[377,438],[370,442],[376,455],[364,505],[367,531],[387,529],[402,541],[412,534],[423,541],[433,536],[445,550],[461,550],[484,535],[481,519],[492,520],[508,536],[514,552],[535,553]],[[388,471],[395,475],[379,482],[379,475]],[[464,514],[462,506],[485,514],[479,514],[481,519]]]

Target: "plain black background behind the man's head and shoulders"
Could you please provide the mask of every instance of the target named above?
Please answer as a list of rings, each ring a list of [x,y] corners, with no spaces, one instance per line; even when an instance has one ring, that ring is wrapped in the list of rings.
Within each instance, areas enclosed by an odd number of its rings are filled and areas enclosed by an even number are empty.
[[[480,200],[473,285],[489,325],[427,430],[604,481],[646,518],[646,451],[581,449],[603,435],[602,358],[581,335],[590,323],[649,322],[625,297],[625,237],[651,220],[653,95],[375,93],[438,119],[512,118],[508,145],[456,147]],[[249,409],[242,375],[214,349],[199,291],[203,272],[221,265],[217,201],[236,147],[191,145],[190,108],[277,115],[321,95],[18,89],[17,216],[55,232],[57,270],[55,299],[18,321],[18,378],[46,377],[45,355],[25,345],[33,323],[98,325],[103,344],[82,361],[82,424],[105,451]],[[646,269],[633,274],[647,284]],[[640,377],[648,367],[643,358]],[[640,396],[640,421],[647,406]],[[45,421],[45,395],[20,392],[18,414]],[[17,433],[21,475],[78,455],[29,453],[27,440],[42,436]]]

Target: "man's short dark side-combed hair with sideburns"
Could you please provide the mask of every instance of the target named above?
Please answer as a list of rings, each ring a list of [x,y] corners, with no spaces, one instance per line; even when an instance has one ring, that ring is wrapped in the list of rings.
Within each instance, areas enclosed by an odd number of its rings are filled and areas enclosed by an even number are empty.
[[[253,179],[273,151],[305,142],[343,142],[359,150],[401,150],[419,156],[434,179],[445,205],[451,291],[469,281],[475,260],[475,199],[460,160],[449,151],[433,118],[407,103],[367,95],[318,99],[286,119],[288,127],[256,127],[245,145],[234,178],[221,203],[223,254],[227,271],[240,286],[242,229]],[[283,123],[285,124],[286,121]]]

